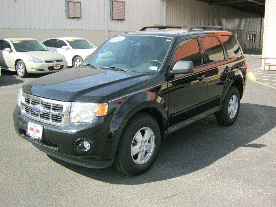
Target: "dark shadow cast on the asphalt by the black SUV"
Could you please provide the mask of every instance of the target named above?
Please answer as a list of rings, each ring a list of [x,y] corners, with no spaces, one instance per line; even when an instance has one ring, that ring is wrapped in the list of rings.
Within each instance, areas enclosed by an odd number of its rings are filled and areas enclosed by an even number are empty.
[[[160,152],[153,166],[144,174],[129,177],[113,166],[92,169],[76,166],[49,156],[58,164],[91,179],[139,185],[193,173],[205,168],[239,147],[266,147],[250,143],[276,126],[276,107],[241,103],[239,117],[230,127],[217,124],[214,115],[171,134],[161,141]],[[254,120],[254,122],[252,122]]]

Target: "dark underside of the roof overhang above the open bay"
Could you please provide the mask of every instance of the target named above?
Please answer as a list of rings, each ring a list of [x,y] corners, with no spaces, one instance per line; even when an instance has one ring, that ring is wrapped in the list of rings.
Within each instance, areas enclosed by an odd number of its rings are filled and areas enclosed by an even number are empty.
[[[241,12],[253,12],[264,17],[265,0],[199,0],[208,3],[209,6],[228,7],[228,10],[240,10]]]

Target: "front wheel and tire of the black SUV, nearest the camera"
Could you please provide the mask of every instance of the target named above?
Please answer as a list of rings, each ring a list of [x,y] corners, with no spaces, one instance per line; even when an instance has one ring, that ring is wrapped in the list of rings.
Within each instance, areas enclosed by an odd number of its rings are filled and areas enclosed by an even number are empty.
[[[160,149],[160,129],[149,114],[138,114],[124,128],[114,160],[115,168],[130,176],[147,171]]]

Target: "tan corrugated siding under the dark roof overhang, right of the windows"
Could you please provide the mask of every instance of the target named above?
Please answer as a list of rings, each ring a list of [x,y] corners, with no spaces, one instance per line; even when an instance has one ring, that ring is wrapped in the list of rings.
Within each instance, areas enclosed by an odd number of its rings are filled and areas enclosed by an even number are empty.
[[[166,0],[167,25],[213,25],[228,30],[260,32],[261,19],[257,14],[229,10],[227,7],[208,6],[194,0]]]

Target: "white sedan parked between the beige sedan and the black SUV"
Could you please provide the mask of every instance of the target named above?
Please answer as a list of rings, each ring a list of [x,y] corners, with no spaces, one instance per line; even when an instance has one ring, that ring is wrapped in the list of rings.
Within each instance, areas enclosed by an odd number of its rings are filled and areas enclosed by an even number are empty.
[[[79,37],[56,37],[42,41],[50,50],[66,56],[68,66],[79,66],[85,57],[93,53],[97,47]]]

